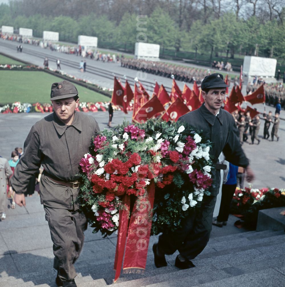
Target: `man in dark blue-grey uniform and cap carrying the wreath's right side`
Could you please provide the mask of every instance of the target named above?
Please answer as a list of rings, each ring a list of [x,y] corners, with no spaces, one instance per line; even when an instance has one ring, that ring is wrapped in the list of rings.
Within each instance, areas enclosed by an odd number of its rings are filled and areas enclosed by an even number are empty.
[[[165,254],[173,254],[176,250],[175,266],[180,269],[195,267],[191,262],[206,247],[212,230],[212,218],[219,191],[223,166],[217,164],[221,152],[227,161],[246,169],[247,180],[252,181],[254,175],[249,168],[238,137],[238,130],[233,116],[221,109],[225,99],[226,87],[223,75],[214,73],[206,76],[201,84],[204,104],[197,110],[179,118],[180,121],[191,124],[202,130],[202,135],[213,142],[210,154],[214,158],[212,173],[215,182],[210,187],[211,195],[204,195],[202,206],[193,209],[188,218],[182,220],[182,227],[175,232],[165,231],[159,236],[157,244],[153,245],[154,262],[156,267],[166,266]]]

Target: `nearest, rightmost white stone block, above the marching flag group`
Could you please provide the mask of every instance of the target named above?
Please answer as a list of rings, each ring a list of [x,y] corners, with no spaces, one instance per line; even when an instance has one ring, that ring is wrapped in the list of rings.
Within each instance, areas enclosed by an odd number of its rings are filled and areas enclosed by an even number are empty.
[[[243,74],[247,76],[274,77],[277,60],[255,56],[245,56]]]

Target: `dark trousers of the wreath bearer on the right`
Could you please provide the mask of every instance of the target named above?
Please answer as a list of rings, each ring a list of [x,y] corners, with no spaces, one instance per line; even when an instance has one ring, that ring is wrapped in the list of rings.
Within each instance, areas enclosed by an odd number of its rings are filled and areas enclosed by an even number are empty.
[[[159,236],[159,252],[169,255],[178,250],[189,260],[200,254],[210,238],[215,203],[216,196],[204,195],[202,206],[192,210],[189,217],[183,220],[180,229]]]

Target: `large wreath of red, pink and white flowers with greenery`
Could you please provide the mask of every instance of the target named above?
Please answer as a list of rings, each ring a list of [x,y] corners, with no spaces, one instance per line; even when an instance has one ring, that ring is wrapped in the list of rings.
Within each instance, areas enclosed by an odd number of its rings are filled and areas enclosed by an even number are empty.
[[[79,202],[93,232],[118,229],[122,198],[147,197],[155,183],[151,233],[175,230],[191,208],[209,195],[210,142],[187,124],[148,120],[124,123],[92,138],[80,161]]]

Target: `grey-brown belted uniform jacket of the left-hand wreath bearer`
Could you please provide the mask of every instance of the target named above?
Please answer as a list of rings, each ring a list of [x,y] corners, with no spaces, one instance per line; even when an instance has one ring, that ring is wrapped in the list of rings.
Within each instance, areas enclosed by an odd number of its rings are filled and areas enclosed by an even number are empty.
[[[78,179],[79,162],[89,151],[92,136],[99,132],[96,120],[75,112],[72,125],[62,123],[55,113],[41,119],[24,143],[24,155],[17,164],[10,183],[16,193],[24,193],[29,179],[42,165],[45,172],[60,180]],[[73,205],[78,189],[55,183],[44,174],[40,181],[41,204],[52,208],[77,209]]]

